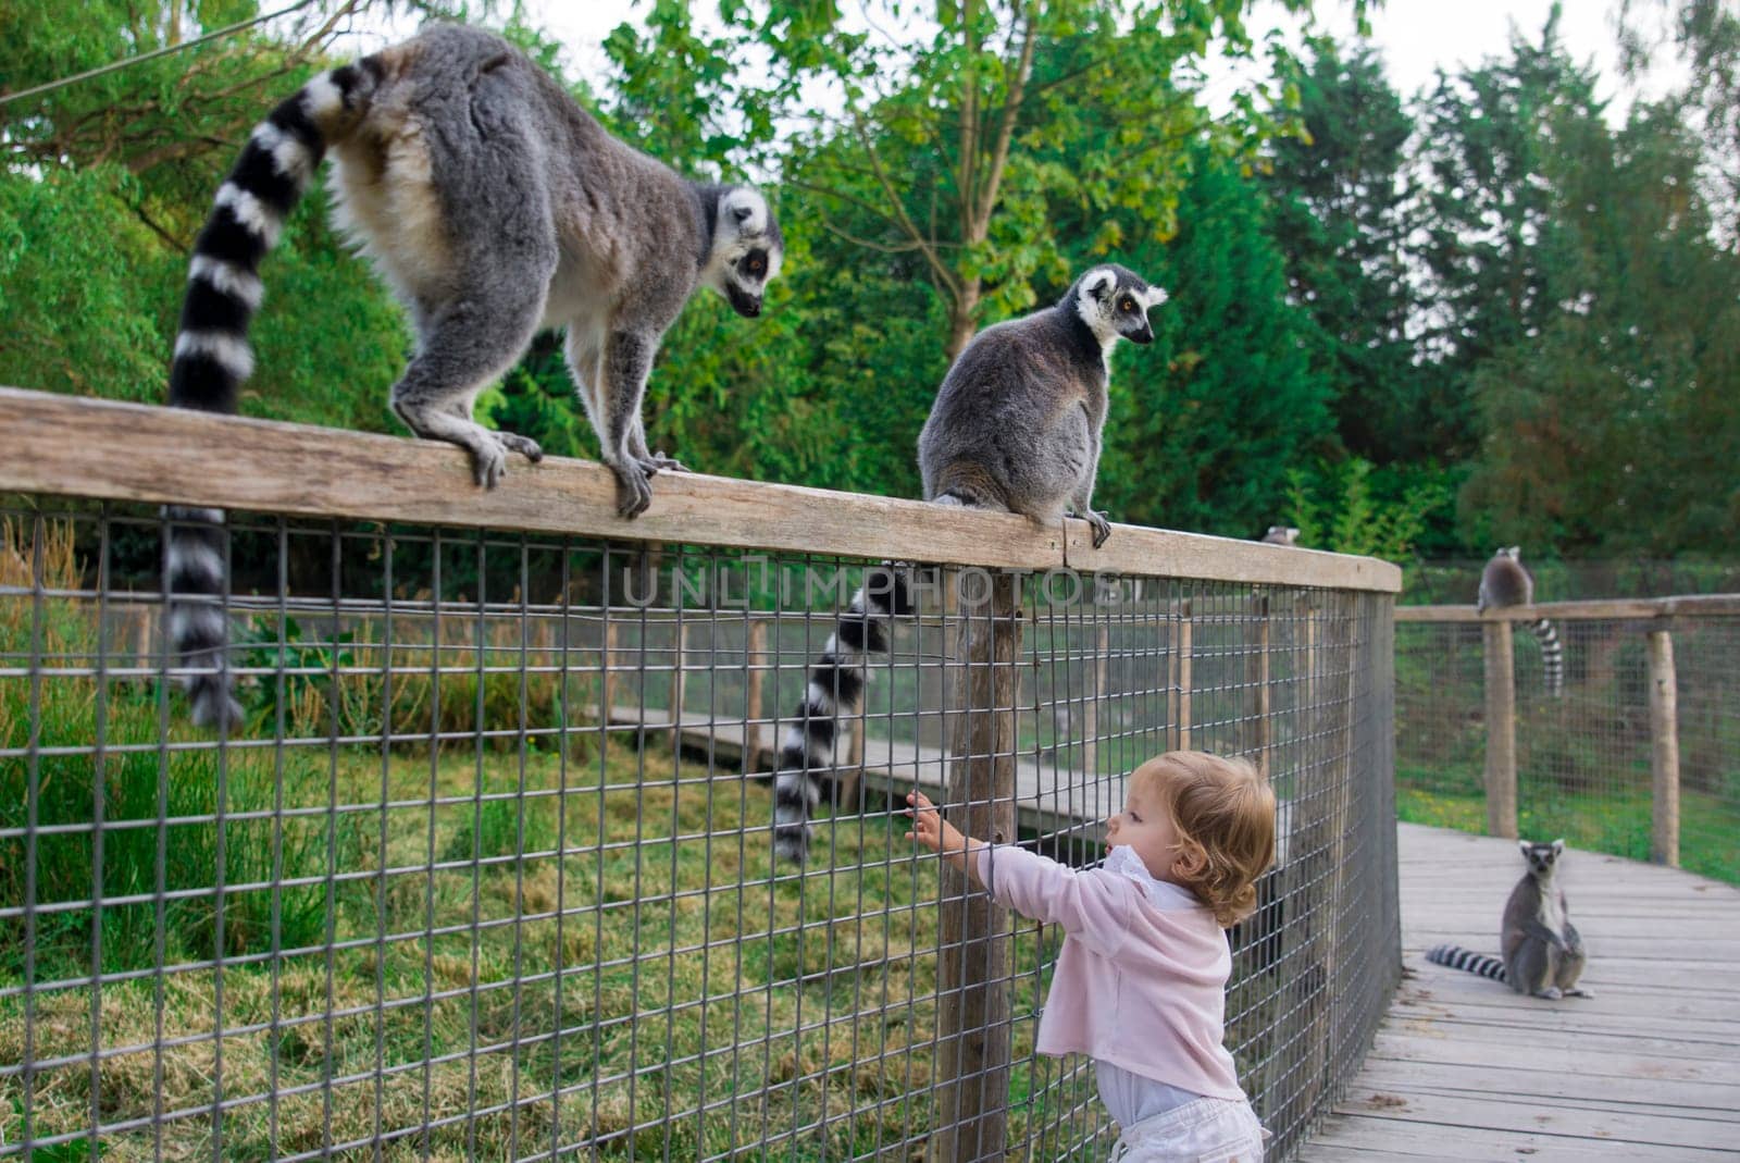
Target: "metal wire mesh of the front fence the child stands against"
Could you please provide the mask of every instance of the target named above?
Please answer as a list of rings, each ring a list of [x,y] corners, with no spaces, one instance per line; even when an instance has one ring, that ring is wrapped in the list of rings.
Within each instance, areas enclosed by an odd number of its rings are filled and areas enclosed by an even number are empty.
[[[218,738],[172,693],[160,519],[3,512],[0,1158],[868,1160],[936,1130],[950,902],[889,799],[947,782],[947,602],[872,667],[795,869],[757,776],[860,562],[231,514],[251,716]],[[1284,1158],[1399,963],[1389,599],[1082,582],[1023,590],[1023,843],[1096,858],[1169,747],[1265,766],[1281,860],[1227,1015]],[[1088,1062],[1032,1052],[1060,940],[1009,924],[1009,1158],[1115,1133]]]

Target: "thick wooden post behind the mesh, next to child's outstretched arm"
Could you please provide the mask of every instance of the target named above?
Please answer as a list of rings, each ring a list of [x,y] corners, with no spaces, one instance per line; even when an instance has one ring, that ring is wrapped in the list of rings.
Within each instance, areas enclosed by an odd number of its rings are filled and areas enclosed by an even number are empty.
[[[973,576],[987,576],[973,571]],[[1021,623],[1016,580],[960,601],[955,738],[945,817],[967,836],[1014,841]],[[1009,1104],[1009,911],[943,865],[936,966],[936,1130],[931,1163],[1000,1160]]]

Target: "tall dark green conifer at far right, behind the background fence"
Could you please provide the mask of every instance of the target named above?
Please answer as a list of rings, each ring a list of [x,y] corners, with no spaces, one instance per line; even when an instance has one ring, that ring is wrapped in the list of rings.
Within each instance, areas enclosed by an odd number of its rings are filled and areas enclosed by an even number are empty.
[[[1712,242],[1672,103],[1561,132],[1559,310],[1476,369],[1463,517],[1563,554],[1728,552],[1740,521],[1740,259]]]

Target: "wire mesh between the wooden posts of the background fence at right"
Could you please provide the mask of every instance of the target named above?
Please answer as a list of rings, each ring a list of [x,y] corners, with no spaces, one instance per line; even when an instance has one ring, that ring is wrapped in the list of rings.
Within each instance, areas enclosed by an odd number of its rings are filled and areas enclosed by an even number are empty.
[[[1545,691],[1542,651],[1514,634],[1517,829],[1650,858],[1651,623],[1561,620],[1564,695]],[[1681,864],[1740,881],[1740,618],[1679,616]],[[1397,630],[1395,782],[1402,817],[1484,830],[1486,712],[1476,623]]]

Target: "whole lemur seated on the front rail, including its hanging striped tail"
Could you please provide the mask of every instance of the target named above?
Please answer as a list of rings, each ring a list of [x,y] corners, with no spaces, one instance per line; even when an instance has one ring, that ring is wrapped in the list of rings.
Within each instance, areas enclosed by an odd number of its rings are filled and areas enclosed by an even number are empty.
[[[1112,346],[1152,343],[1148,308],[1166,301],[1124,266],[1086,272],[1053,306],[987,327],[960,352],[919,435],[924,500],[1021,514],[1041,524],[1067,512],[1093,526],[1094,548],[1112,526],[1093,512]],[[833,768],[842,710],[858,707],[873,653],[887,651],[889,618],[910,613],[914,568],[884,564],[842,615],[811,670],[786,729],[774,776],[774,850],[802,860],[809,817]]]

